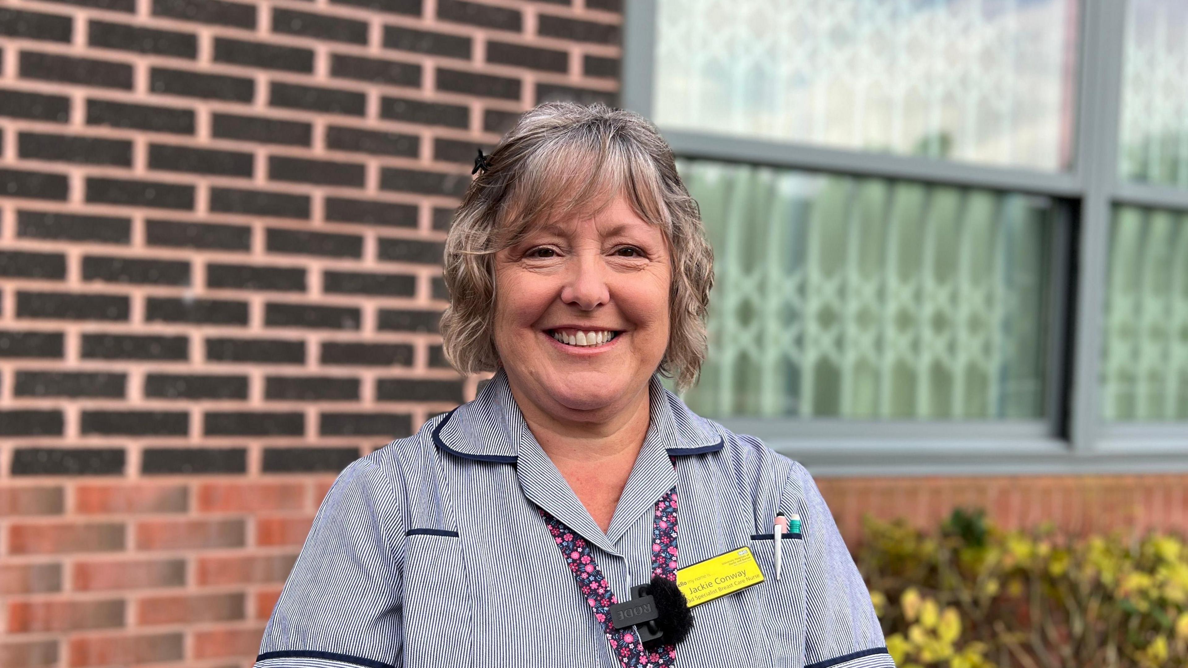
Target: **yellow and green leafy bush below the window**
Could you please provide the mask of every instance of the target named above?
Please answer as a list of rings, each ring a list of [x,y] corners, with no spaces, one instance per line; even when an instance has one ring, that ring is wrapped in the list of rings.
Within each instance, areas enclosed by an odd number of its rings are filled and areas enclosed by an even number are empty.
[[[855,561],[901,668],[1188,666],[1174,536],[1004,531],[956,510],[937,535],[867,518]]]

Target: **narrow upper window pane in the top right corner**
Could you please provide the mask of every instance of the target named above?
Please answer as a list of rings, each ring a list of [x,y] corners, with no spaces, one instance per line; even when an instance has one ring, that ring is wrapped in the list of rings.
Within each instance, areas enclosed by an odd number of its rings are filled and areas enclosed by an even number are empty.
[[[1188,2],[1130,0],[1124,63],[1123,178],[1188,188]]]

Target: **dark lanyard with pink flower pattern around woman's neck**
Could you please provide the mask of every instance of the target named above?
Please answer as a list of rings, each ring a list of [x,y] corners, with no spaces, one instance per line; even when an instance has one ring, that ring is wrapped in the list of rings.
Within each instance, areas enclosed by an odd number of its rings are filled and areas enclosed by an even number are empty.
[[[618,653],[624,668],[662,668],[676,663],[676,648],[665,644],[647,650],[636,637],[633,629],[615,630],[611,626],[608,609],[619,603],[611,591],[602,571],[590,555],[589,544],[560,519],[541,510],[541,516],[549,523],[549,532],[557,541],[561,554],[569,563],[577,586],[586,597],[586,603],[594,611],[611,650]],[[669,490],[656,502],[656,516],[652,519],[652,575],[661,575],[676,581],[676,487]]]

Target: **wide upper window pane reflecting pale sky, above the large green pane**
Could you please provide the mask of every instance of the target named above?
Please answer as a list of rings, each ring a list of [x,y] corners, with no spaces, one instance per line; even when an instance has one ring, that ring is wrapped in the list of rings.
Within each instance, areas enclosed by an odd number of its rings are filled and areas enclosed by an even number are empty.
[[[1076,0],[658,0],[653,120],[1061,170]]]

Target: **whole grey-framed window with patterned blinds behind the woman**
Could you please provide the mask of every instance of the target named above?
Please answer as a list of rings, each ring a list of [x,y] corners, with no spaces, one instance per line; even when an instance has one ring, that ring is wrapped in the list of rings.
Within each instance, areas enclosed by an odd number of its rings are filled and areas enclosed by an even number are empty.
[[[715,251],[695,410],[819,471],[1182,466],[1188,4],[625,7]]]

